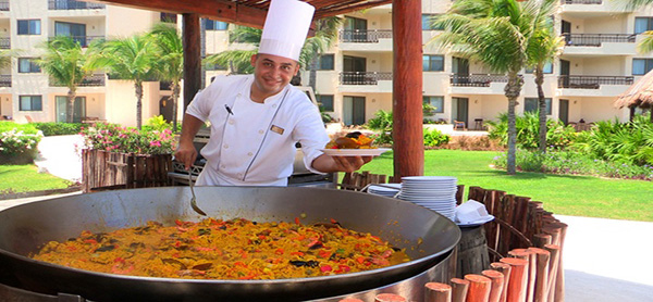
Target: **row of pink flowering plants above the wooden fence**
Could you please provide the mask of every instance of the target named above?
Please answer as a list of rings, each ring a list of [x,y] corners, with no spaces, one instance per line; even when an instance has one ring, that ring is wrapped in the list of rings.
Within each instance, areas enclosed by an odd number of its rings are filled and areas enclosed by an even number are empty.
[[[122,127],[118,124],[98,123],[94,127],[85,127],[86,148],[119,153],[170,154],[175,149],[172,130],[160,130]]]

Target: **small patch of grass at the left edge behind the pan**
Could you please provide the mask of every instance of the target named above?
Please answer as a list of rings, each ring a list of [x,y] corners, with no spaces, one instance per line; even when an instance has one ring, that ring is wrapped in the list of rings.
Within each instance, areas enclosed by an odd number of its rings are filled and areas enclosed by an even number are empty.
[[[35,165],[0,165],[0,193],[65,189],[71,185],[69,180],[38,173]]]

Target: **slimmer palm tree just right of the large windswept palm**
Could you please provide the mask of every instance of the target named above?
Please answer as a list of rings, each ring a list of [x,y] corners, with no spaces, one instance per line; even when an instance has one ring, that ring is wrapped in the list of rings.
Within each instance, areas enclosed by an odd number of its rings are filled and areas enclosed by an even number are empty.
[[[555,0],[541,2],[540,11],[553,13]],[[542,84],[544,83],[544,64],[552,63],[562,53],[564,39],[553,28],[553,20],[544,13],[538,13],[532,21],[533,34],[526,48],[528,64],[533,67],[538,89],[538,108],[540,117],[540,152],[546,152],[546,101]]]

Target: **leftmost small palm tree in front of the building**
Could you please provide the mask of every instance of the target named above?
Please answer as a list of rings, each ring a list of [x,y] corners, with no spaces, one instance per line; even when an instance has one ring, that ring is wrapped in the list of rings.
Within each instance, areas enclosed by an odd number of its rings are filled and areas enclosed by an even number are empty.
[[[50,76],[54,85],[67,87],[65,112],[66,123],[73,123],[77,87],[93,70],[88,65],[88,55],[78,41],[67,36],[57,36],[41,46],[46,50],[42,59],[37,60],[40,67]]]

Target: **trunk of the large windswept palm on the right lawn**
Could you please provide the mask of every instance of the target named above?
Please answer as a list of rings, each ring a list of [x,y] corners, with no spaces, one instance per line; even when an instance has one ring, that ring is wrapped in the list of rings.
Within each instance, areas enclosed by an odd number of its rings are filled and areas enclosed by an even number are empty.
[[[508,98],[508,163],[507,174],[516,174],[516,159],[517,159],[517,127],[515,108],[517,106],[517,98],[521,92],[521,86],[523,79],[517,75],[517,72],[508,73],[508,83],[504,88],[506,98]]]

